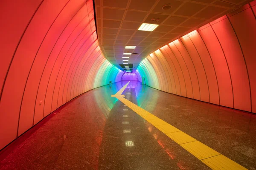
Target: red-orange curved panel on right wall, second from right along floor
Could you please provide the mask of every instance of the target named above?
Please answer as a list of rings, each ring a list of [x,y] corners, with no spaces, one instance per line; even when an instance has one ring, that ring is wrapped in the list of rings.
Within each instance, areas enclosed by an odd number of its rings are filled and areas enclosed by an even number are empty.
[[[236,34],[227,17],[213,24],[212,28],[218,37],[229,66],[234,108],[250,111],[250,86],[247,68]]]

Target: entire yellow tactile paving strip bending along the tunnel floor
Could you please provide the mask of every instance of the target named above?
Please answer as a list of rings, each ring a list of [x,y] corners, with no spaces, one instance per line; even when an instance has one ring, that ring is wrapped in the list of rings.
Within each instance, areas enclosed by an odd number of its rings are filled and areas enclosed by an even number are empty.
[[[111,96],[119,99],[122,103],[131,108],[131,110],[143,117],[146,121],[151,123],[151,125],[155,126],[161,132],[165,133],[167,136],[169,136],[169,138],[174,140],[177,144],[180,144],[181,147],[189,151],[189,153],[204,162],[204,164],[213,170],[247,170],[245,167],[241,166],[235,161],[232,161],[226,156],[221,155],[221,153],[218,153],[217,151],[199,142],[198,140],[182,132],[176,127],[168,124],[162,119],[159,119],[157,116],[154,116],[148,111],[145,111],[143,108],[140,108],[129,100],[123,98],[125,95],[122,95],[122,92],[125,90],[129,82],[123,86],[115,95]]]

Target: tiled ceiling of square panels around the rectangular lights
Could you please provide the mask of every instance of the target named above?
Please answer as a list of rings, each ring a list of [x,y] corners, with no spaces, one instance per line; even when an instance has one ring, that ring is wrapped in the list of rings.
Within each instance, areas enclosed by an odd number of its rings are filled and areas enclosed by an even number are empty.
[[[99,45],[113,65],[124,70],[123,53],[135,71],[158,48],[251,0],[95,0]],[[172,8],[163,10],[163,5]],[[159,18],[160,21],[152,21]],[[142,23],[159,24],[154,31],[138,31]],[[137,46],[125,49],[126,45]],[[127,57],[127,55],[125,56]]]

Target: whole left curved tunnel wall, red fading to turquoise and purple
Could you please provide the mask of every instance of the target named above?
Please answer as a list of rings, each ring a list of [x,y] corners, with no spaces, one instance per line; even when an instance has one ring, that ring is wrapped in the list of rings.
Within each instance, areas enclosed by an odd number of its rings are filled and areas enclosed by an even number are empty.
[[[121,81],[99,48],[92,0],[9,0],[0,15],[0,149],[74,97]]]

